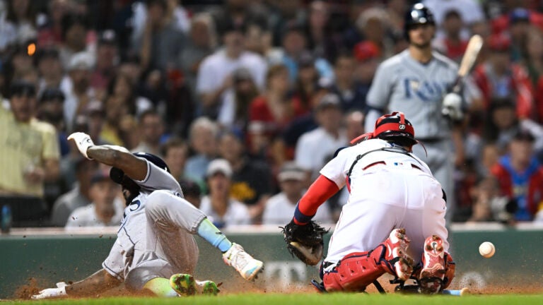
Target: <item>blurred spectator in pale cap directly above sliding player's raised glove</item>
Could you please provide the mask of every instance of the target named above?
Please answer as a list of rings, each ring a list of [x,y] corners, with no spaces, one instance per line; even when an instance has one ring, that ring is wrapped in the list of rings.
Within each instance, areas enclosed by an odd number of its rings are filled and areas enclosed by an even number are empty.
[[[66,130],[71,131],[74,119],[82,113],[88,102],[95,98],[95,90],[91,88],[91,69],[93,59],[86,52],[71,56],[68,75],[64,76],[60,89],[64,92],[64,120]]]

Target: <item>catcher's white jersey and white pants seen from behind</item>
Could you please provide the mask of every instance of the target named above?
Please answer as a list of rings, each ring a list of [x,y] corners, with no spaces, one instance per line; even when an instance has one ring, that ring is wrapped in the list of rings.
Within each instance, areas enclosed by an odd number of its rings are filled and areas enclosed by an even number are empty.
[[[415,261],[432,234],[448,249],[441,186],[428,165],[402,147],[366,140],[339,151],[320,174],[340,189],[347,180],[350,186],[325,261],[337,263],[349,253],[375,249],[399,227],[411,238],[409,254]]]

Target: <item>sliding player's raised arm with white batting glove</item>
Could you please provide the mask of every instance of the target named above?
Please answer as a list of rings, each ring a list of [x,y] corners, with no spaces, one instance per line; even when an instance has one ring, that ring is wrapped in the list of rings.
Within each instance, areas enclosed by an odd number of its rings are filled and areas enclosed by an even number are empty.
[[[147,162],[132,155],[126,148],[117,145],[94,145],[86,133],[72,133],[68,140],[74,140],[81,155],[105,165],[122,169],[124,174],[134,180],[143,180],[147,176]]]

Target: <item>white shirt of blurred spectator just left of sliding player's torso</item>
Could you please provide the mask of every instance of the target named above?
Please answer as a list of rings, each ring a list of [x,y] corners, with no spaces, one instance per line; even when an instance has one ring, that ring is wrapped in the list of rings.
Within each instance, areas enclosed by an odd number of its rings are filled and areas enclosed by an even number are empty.
[[[98,219],[98,215],[96,214],[96,205],[94,203],[80,208],[76,208],[74,212],[72,212],[68,217],[68,222],[66,222],[66,228],[117,227],[122,220],[122,213],[124,212],[124,202],[120,198],[115,198],[113,205],[115,208],[115,214],[107,223]]]

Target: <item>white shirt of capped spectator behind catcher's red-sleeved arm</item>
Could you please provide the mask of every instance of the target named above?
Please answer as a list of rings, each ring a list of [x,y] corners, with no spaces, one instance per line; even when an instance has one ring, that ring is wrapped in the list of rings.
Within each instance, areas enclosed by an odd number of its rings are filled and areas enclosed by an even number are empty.
[[[288,201],[285,193],[278,193],[268,199],[262,223],[264,225],[285,225],[292,220],[295,209],[296,203]],[[313,220],[320,223],[332,222],[330,209],[326,202],[319,207]]]

